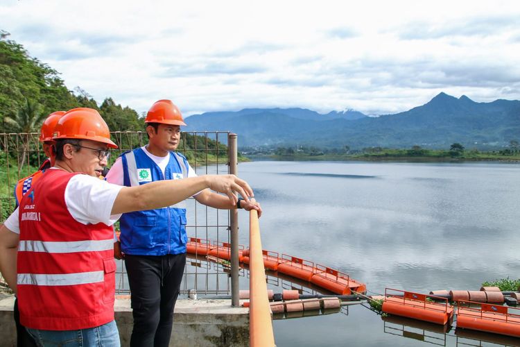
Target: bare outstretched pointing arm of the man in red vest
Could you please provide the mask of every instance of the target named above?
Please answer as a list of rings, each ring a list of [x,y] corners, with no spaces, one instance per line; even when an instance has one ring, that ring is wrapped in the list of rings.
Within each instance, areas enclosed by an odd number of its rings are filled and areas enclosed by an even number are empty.
[[[117,194],[111,214],[154,210],[183,201],[204,189],[212,189],[227,196],[234,206],[239,193],[249,202],[253,191],[245,180],[234,175],[205,175],[183,180],[159,180],[138,187],[123,187]]]

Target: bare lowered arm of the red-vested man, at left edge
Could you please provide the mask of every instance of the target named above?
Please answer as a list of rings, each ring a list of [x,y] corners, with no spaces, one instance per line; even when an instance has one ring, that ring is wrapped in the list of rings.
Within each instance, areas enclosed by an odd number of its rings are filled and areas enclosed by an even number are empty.
[[[0,227],[0,272],[12,291],[17,292],[16,259],[19,235],[6,226]]]

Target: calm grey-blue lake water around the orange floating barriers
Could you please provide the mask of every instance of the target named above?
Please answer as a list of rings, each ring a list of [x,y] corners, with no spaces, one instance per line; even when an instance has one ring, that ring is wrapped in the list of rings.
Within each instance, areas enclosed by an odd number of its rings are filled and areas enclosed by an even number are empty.
[[[520,278],[520,164],[261,161],[239,164],[239,176],[262,205],[264,249],[349,273],[369,294]],[[277,346],[494,346],[489,335],[410,325],[361,305],[274,321]]]

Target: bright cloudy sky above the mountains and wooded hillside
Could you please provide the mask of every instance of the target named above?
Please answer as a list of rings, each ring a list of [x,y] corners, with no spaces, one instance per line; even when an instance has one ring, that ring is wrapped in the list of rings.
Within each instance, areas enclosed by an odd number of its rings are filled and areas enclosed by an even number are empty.
[[[517,0],[0,0],[0,29],[69,89],[139,112],[520,99]]]

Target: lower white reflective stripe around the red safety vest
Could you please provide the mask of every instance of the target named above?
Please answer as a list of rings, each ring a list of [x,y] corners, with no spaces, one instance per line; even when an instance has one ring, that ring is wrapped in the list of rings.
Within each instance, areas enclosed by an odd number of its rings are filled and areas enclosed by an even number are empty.
[[[105,271],[90,271],[80,273],[60,273],[59,275],[42,275],[35,273],[19,273],[17,285],[87,285],[103,282]]]

